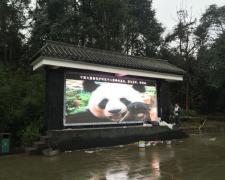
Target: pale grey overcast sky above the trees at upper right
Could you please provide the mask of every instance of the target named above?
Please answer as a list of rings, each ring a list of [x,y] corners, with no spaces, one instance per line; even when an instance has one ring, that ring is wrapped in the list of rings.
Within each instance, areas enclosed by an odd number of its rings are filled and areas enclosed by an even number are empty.
[[[156,11],[156,18],[171,32],[177,22],[176,12],[180,8],[186,9],[193,19],[199,19],[211,4],[225,5],[225,0],[152,0]]]

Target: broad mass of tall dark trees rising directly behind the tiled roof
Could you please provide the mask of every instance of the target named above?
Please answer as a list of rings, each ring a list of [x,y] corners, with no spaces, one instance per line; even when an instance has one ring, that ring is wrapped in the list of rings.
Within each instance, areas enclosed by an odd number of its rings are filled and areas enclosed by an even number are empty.
[[[81,46],[155,56],[163,28],[148,0],[38,1],[30,40],[38,49],[46,39]]]

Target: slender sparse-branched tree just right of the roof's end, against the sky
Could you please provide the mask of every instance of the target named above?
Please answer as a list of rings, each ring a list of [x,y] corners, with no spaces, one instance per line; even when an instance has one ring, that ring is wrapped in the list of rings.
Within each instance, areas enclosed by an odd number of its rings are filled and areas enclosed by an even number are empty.
[[[169,49],[169,52],[176,57],[172,63],[177,64],[186,71],[185,81],[182,84],[184,87],[180,87],[182,92],[178,94],[186,97],[185,107],[188,111],[190,104],[193,104],[192,89],[194,87],[197,64],[195,55],[199,48],[195,36],[196,19],[193,20],[187,10],[177,11],[177,17],[178,23],[175,25],[173,32],[166,36],[162,50],[165,53],[166,49]]]

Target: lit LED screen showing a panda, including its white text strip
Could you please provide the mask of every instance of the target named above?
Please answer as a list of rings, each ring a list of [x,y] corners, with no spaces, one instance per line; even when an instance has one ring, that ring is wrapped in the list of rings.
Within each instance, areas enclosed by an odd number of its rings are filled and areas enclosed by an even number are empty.
[[[64,125],[135,123],[157,116],[155,81],[67,73]]]

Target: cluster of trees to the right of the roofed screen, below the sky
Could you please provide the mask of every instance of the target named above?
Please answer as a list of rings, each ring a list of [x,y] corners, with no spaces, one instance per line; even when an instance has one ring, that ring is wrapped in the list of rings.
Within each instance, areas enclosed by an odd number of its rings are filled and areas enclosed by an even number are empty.
[[[179,21],[161,48],[162,58],[186,71],[183,83],[171,83],[172,101],[198,113],[224,113],[225,6],[209,6],[197,27],[196,20],[185,19],[185,10],[178,12]]]

